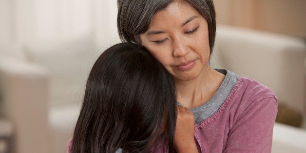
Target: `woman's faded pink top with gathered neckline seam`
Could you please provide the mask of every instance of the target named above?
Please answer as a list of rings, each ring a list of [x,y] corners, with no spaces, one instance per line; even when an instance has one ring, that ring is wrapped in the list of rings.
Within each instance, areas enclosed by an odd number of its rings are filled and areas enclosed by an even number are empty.
[[[222,106],[195,124],[194,139],[199,153],[270,153],[277,114],[274,93],[240,76]],[[71,140],[67,143],[70,148]],[[155,152],[162,153],[160,145]]]

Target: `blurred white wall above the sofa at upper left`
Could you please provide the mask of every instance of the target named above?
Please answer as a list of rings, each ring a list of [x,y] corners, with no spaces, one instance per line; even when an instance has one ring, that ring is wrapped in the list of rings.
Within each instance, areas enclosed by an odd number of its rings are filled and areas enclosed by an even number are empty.
[[[116,15],[116,0],[0,0],[0,42],[27,45],[89,36],[108,47],[119,42]]]

